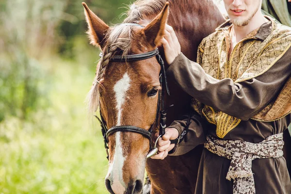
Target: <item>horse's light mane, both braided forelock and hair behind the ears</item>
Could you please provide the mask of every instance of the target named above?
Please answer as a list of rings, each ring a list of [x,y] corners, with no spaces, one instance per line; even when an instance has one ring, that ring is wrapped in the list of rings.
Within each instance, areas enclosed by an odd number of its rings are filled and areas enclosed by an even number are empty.
[[[201,12],[202,3],[200,0],[180,0],[177,5],[175,0],[136,0],[133,4],[129,5],[129,10],[126,13],[126,19],[123,23],[139,23],[143,19],[151,19],[157,16],[164,7],[166,2],[170,3],[170,8],[180,11],[180,15],[183,13],[191,12]],[[210,3],[212,0],[206,0]],[[194,6],[190,6],[194,5]],[[208,6],[207,4],[203,6]],[[87,106],[89,110],[89,115],[97,111],[99,105],[99,86],[102,87],[101,82],[105,74],[106,67],[109,65],[109,60],[113,55],[128,55],[131,49],[133,31],[132,26],[125,25],[113,25],[107,31],[105,35],[106,44],[103,48],[103,55],[99,60],[97,65],[97,72],[93,86],[87,96]]]

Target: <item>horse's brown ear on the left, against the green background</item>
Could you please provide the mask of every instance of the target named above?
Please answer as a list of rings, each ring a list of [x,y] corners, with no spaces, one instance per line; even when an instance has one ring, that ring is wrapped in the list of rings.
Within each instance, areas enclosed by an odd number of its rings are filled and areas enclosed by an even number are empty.
[[[88,35],[90,43],[94,46],[100,46],[101,49],[104,46],[105,33],[109,29],[109,26],[102,21],[98,16],[96,16],[86,5],[82,2],[84,6],[84,12],[86,16],[86,21],[88,24]]]

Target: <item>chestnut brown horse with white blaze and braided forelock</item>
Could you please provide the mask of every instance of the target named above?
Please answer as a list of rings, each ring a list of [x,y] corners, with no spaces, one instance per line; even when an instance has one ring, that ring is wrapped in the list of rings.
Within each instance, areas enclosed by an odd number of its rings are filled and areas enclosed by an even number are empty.
[[[168,80],[171,95],[166,95],[166,85],[160,80],[163,66],[154,56],[164,58],[161,40],[169,24],[181,51],[195,61],[199,43],[224,17],[211,0],[137,0],[122,24],[109,27],[82,4],[90,43],[102,50],[88,107],[90,114],[100,110],[109,160],[107,190],[111,194],[142,193],[146,169],[151,194],[194,193],[203,145],[164,160],[146,159],[154,134],[161,129],[161,96],[165,107],[174,104],[167,113],[167,126],[190,111],[192,98],[172,80]],[[152,55],[145,58],[145,53]],[[130,56],[142,58],[126,60]]]

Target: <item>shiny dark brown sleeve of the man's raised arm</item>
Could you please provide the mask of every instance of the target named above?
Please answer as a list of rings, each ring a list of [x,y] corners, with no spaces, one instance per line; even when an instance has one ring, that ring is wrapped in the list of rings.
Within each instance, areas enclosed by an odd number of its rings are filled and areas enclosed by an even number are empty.
[[[259,113],[280,91],[291,75],[291,49],[262,75],[239,83],[217,80],[180,53],[167,70],[189,95],[218,111],[242,120]]]

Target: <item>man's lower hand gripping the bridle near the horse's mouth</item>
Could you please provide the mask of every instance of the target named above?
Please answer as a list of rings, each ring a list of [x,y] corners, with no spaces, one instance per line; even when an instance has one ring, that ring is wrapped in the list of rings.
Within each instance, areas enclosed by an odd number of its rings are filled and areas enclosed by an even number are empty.
[[[175,144],[171,144],[170,140],[177,139],[179,135],[179,132],[175,128],[166,128],[165,129],[165,134],[158,140],[158,149],[159,149],[159,154],[153,155],[152,159],[161,159],[163,160],[167,155],[168,152],[171,151],[174,147]],[[159,136],[159,133],[156,134],[156,136]]]

